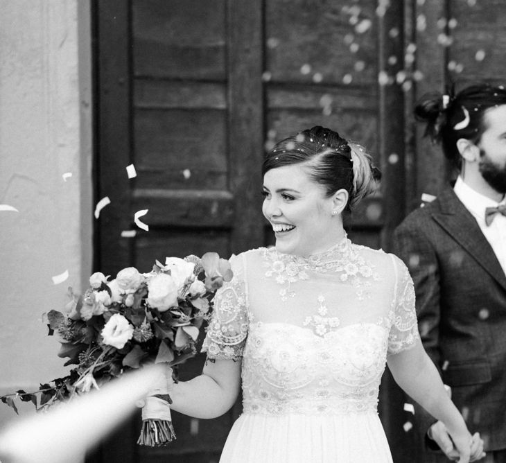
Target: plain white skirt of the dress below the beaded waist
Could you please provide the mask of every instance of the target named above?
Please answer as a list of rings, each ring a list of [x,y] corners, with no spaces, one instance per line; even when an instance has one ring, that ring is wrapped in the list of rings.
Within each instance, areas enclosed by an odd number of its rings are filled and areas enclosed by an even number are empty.
[[[242,414],[220,463],[392,463],[376,412]]]

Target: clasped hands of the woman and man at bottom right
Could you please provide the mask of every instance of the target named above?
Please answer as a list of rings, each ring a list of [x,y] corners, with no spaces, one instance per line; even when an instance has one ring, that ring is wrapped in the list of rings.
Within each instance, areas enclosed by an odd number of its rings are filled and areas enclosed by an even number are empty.
[[[473,436],[467,431],[451,434],[442,421],[437,421],[430,427],[428,435],[450,460],[468,463],[485,457],[480,433],[474,433]]]

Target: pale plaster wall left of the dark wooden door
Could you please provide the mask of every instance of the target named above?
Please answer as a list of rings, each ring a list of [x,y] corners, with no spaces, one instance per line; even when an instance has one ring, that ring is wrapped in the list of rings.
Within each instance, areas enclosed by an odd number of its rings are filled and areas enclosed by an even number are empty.
[[[69,369],[42,314],[62,310],[67,287],[85,289],[91,272],[91,32],[89,0],[0,0],[0,11],[0,204],[19,211],[0,211],[6,394]],[[0,427],[14,419],[0,403]]]

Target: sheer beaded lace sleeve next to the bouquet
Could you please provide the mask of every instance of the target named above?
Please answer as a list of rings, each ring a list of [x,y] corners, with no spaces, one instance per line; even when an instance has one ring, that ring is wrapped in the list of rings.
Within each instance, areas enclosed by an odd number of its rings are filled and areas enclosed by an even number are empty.
[[[247,336],[246,291],[241,256],[232,256],[234,277],[216,292],[214,308],[202,344],[202,352],[213,360],[239,360]]]

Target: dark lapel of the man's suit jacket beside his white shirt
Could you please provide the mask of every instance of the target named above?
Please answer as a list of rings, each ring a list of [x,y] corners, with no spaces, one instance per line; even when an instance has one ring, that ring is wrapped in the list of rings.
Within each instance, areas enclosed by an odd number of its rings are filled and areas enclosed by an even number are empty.
[[[453,189],[442,191],[437,200],[441,211],[433,213],[434,220],[506,290],[505,272],[476,219],[460,202]]]

